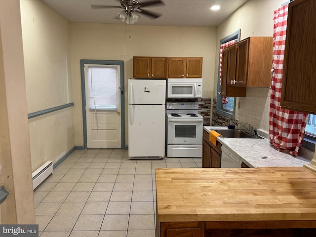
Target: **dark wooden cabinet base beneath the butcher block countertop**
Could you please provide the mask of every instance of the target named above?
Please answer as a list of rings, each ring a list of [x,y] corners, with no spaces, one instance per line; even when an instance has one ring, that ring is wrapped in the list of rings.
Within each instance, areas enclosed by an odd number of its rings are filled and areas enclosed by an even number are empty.
[[[315,236],[314,221],[162,222],[156,237]]]

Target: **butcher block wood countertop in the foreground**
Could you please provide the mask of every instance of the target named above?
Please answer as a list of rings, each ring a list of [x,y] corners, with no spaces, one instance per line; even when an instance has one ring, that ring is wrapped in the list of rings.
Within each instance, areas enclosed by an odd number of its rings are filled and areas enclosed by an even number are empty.
[[[156,187],[158,222],[314,220],[316,227],[316,174],[304,167],[159,168]]]

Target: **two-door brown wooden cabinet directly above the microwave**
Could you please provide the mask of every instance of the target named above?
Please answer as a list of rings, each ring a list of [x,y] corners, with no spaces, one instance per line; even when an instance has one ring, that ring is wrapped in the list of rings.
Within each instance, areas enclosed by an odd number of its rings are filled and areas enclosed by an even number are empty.
[[[202,57],[170,57],[168,78],[201,78]]]

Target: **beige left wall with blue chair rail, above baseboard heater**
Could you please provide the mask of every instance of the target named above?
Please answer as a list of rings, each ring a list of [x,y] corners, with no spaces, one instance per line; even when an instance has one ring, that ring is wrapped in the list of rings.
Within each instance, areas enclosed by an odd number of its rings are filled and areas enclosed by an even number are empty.
[[[21,0],[28,113],[73,102],[69,22],[40,0]],[[73,108],[29,119],[32,170],[74,146]]]

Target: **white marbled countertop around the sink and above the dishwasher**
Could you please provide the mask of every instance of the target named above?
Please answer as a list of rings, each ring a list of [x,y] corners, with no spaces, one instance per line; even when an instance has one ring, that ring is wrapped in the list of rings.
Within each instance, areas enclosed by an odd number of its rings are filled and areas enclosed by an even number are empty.
[[[207,132],[214,129],[226,129],[227,127],[204,126]],[[270,146],[267,139],[252,138],[226,138],[217,137],[217,141],[231,151],[237,158],[249,167],[286,167],[303,166],[311,163],[311,160],[303,157],[294,157],[279,152]]]

